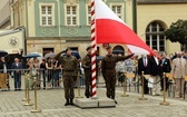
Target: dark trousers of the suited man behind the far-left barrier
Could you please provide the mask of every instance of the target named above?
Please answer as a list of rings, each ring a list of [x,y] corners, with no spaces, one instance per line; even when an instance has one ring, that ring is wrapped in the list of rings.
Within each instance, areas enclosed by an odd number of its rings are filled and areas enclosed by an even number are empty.
[[[14,89],[21,89],[21,74],[14,72]]]

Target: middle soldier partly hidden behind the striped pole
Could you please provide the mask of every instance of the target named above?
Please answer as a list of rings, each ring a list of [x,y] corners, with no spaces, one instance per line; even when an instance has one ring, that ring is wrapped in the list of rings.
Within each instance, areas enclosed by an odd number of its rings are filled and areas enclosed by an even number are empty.
[[[82,59],[82,67],[85,70],[85,96],[87,98],[91,97],[91,46],[87,48],[87,55]]]

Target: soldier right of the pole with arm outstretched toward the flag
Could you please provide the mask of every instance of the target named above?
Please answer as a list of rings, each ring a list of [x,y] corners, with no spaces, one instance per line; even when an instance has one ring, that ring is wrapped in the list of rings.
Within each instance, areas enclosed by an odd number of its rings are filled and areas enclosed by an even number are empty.
[[[106,57],[102,59],[101,61],[101,72],[106,82],[106,88],[107,88],[107,97],[115,99],[115,86],[116,86],[116,62],[120,61],[120,60],[126,60],[130,57],[134,56],[129,55],[129,56],[115,56],[112,55],[112,48],[110,46],[107,47],[107,51],[108,53],[106,55]],[[115,103],[117,104],[117,101],[115,100]]]

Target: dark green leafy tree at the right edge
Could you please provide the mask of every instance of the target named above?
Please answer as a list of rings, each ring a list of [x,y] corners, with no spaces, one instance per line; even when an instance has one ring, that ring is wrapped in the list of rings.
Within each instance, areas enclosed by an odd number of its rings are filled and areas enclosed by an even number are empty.
[[[165,31],[166,39],[169,39],[171,42],[179,42],[183,46],[183,49],[186,50],[187,45],[187,21],[178,20],[173,22]]]

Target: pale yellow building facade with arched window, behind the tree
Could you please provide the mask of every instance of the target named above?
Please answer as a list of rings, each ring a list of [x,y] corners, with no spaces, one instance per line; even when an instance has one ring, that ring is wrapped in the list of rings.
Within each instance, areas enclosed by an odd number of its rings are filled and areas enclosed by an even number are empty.
[[[187,19],[187,0],[138,0],[138,35],[150,48],[174,53],[178,42],[166,40],[164,31],[178,19]]]

